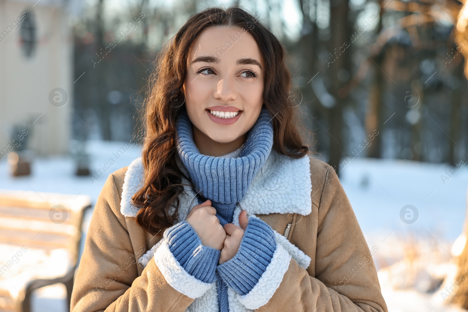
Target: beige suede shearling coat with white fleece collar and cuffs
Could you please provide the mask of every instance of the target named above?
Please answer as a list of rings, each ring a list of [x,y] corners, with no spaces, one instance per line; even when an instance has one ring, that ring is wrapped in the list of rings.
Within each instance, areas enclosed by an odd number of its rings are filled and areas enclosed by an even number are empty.
[[[137,158],[107,178],[76,273],[71,311],[218,312],[216,281],[189,275],[165,239],[136,222],[129,200],[143,174]],[[194,197],[185,188],[178,222],[196,204]],[[275,230],[277,248],[248,294],[228,288],[230,311],[388,312],[372,259],[378,248],[367,246],[329,164],[272,150],[236,204],[236,225],[241,209]]]

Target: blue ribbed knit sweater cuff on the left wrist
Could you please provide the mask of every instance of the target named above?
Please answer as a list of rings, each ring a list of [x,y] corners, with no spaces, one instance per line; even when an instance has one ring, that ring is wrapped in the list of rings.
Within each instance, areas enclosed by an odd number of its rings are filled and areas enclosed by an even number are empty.
[[[197,232],[185,220],[166,229],[163,236],[168,240],[169,250],[187,273],[202,282],[214,282],[220,250],[202,245]]]

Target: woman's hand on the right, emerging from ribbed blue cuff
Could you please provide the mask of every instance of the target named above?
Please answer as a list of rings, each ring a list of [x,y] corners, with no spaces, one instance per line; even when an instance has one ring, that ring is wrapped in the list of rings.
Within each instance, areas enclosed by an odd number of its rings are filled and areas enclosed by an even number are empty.
[[[247,210],[242,210],[239,214],[239,224],[241,227],[233,223],[227,223],[223,229],[226,231],[226,239],[224,240],[224,247],[221,249],[219,256],[219,264],[234,258],[235,254],[239,251],[241,240],[244,237],[244,232],[247,229],[249,219],[247,218]]]

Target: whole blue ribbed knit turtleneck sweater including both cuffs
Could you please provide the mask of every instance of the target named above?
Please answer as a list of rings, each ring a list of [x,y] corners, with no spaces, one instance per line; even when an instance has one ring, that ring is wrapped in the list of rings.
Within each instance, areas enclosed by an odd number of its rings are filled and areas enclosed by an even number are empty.
[[[200,154],[193,142],[192,124],[183,112],[177,124],[177,150],[200,190],[199,203],[210,199],[221,225],[232,222],[234,208],[245,196],[247,188],[263,166],[273,145],[273,128],[269,112],[263,108],[237,158]],[[170,251],[180,265],[203,282],[218,280],[219,311],[228,312],[227,286],[245,295],[258,283],[276,250],[271,227],[260,219],[250,218],[234,258],[217,265],[220,251],[202,245],[187,221],[177,223],[164,232]]]

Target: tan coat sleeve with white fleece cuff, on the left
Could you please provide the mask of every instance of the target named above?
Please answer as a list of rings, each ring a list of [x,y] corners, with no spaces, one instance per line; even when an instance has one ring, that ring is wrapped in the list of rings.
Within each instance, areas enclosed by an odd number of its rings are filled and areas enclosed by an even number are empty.
[[[146,248],[133,250],[111,174],[91,218],[73,284],[71,312],[184,312],[212,285],[196,280],[180,266],[171,267],[176,260],[167,242],[161,247],[165,248],[157,249],[139,276],[137,261]],[[179,281],[178,290],[170,284],[174,280]]]

